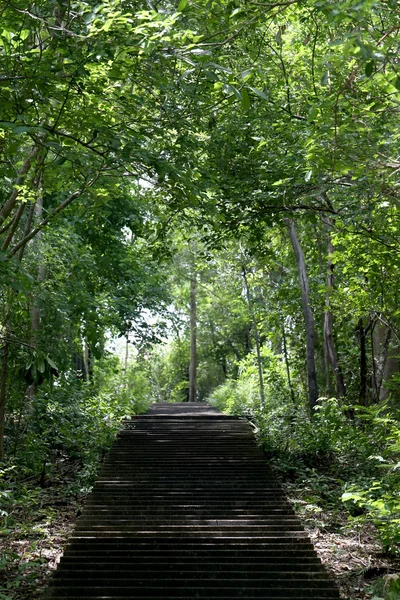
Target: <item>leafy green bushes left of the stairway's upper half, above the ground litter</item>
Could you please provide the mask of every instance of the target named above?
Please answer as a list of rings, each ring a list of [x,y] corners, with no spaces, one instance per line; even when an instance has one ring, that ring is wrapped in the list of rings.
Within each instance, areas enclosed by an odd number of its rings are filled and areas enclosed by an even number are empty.
[[[138,369],[130,369],[124,379],[115,356],[96,362],[92,381],[67,373],[43,384],[33,406],[9,416],[13,464],[27,474],[51,479],[60,464],[75,461],[81,466],[77,485],[87,486],[121,419],[144,412],[149,401]]]

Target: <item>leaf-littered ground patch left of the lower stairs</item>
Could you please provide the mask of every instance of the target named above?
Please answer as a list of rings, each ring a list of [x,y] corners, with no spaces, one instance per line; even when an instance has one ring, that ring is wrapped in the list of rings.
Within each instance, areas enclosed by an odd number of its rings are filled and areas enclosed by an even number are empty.
[[[0,600],[42,596],[85,499],[77,473],[70,463],[44,488],[37,481],[24,483],[23,502],[0,525]]]

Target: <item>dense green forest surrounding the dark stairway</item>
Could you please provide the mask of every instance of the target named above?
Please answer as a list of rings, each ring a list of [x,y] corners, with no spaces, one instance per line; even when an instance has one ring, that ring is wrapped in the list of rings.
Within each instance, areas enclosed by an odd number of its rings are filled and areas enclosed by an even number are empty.
[[[1,599],[120,420],[191,400],[250,420],[344,594],[400,598],[399,23],[1,0]]]

